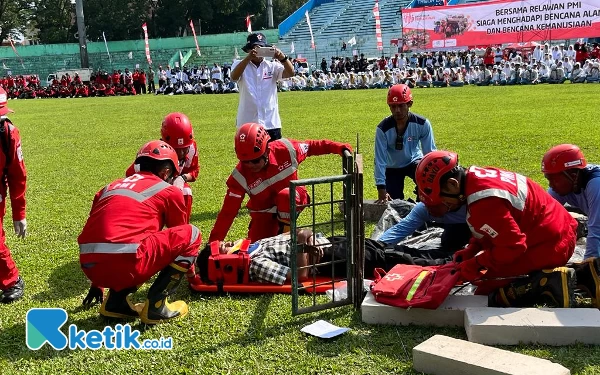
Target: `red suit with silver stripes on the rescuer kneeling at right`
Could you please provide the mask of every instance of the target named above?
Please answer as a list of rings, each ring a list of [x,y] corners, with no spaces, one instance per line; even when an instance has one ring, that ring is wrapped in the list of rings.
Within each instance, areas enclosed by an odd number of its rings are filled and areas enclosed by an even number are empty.
[[[514,172],[469,168],[465,179],[469,246],[483,250],[484,278],[519,276],[564,266],[575,249],[577,221],[541,186]],[[476,282],[488,294],[511,280]]]

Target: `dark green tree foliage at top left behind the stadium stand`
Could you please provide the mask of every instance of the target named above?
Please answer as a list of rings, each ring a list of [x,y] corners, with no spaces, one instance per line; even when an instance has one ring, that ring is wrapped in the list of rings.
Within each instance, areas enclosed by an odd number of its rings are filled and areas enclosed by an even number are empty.
[[[273,0],[274,26],[298,9],[305,0]],[[70,0],[0,0],[0,22],[5,17],[2,4],[33,4],[33,19],[42,43],[75,42],[75,7]],[[85,0],[85,24],[88,40],[139,39],[141,25],[148,24],[151,38],[169,38],[190,33],[189,22],[202,34],[245,31],[246,15],[252,17],[252,28],[267,28],[266,0]],[[19,12],[11,13],[15,17]],[[10,18],[6,18],[7,20]],[[12,25],[21,21],[14,21]],[[25,24],[25,23],[23,23]],[[14,28],[14,27],[13,27]],[[4,30],[4,27],[2,28]]]

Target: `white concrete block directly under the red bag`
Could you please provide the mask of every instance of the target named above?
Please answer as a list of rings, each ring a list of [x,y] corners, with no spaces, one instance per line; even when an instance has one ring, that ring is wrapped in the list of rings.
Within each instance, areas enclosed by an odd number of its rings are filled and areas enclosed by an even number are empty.
[[[464,310],[467,307],[487,306],[487,296],[448,296],[436,310],[402,309],[375,301],[371,292],[367,293],[362,306],[362,320],[368,324],[393,324],[420,326],[458,326],[464,324]]]

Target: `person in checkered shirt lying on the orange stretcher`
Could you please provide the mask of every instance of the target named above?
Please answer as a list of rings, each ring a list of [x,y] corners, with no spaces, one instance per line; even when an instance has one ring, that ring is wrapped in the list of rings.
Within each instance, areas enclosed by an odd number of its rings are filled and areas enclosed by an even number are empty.
[[[304,252],[296,255],[298,266],[298,279],[307,279],[311,264],[317,264],[323,256],[323,249],[331,246],[329,241],[313,235],[311,230],[302,229],[297,232],[298,244],[304,245],[300,249]],[[232,254],[239,251],[240,243],[219,241],[220,254]],[[291,236],[283,233],[274,237],[264,238],[256,241],[248,247],[250,264],[248,272],[250,281],[273,283],[283,285],[291,280]],[[200,279],[207,283],[208,278],[210,244],[208,244],[198,255],[197,266]],[[306,267],[306,268],[305,268]]]

